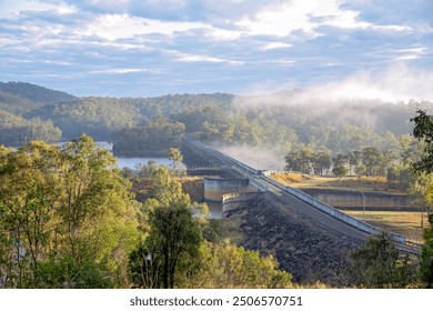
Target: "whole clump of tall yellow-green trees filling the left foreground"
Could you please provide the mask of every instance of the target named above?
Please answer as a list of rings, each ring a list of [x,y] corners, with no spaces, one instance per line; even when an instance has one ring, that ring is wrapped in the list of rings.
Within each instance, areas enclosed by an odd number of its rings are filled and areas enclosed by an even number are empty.
[[[4,285],[127,287],[138,205],[110,152],[82,136],[63,148],[37,141],[0,158]]]

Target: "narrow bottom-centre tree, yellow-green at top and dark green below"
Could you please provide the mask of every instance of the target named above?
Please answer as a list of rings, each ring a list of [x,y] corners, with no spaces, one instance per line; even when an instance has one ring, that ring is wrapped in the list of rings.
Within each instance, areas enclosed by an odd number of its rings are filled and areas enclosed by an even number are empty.
[[[149,237],[138,252],[141,255],[130,258],[130,267],[135,275],[141,275],[141,280],[144,280],[135,285],[148,287],[149,280],[152,280],[153,287],[169,289],[178,285],[177,274],[181,271],[187,273],[193,267],[202,240],[201,230],[193,218],[189,195],[182,192],[178,181],[171,179],[167,168],[160,167],[153,173],[152,182],[152,199],[144,202],[150,227]],[[142,260],[148,255],[151,257],[149,264]],[[147,269],[137,270],[143,267]],[[150,268],[152,272],[148,270]],[[138,279],[135,278],[135,281]]]

